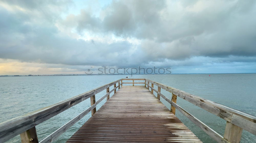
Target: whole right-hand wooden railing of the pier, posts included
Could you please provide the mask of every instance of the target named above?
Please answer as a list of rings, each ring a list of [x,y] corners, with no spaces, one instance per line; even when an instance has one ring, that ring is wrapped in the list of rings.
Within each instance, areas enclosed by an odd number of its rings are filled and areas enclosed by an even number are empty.
[[[147,83],[146,83],[147,82]],[[150,86],[151,83],[151,86]],[[230,107],[212,102],[210,100],[198,97],[196,95],[187,93],[176,88],[168,87],[167,85],[145,79],[145,84],[147,88],[151,88],[151,91],[157,93],[157,98],[160,100],[160,96],[163,97],[168,103],[171,104],[171,112],[175,114],[175,109],[178,109],[183,115],[185,115],[194,124],[200,127],[204,132],[211,136],[217,142],[240,142],[242,135],[242,130],[246,130],[254,135],[256,135],[256,117],[244,113],[242,111],[232,109]],[[154,85],[158,89],[154,89]],[[161,88],[172,93],[172,99],[168,99],[161,93]],[[224,137],[212,130],[209,126],[198,120],[196,117],[188,113],[182,107],[176,104],[177,96],[185,99],[186,101],[205,109],[206,111],[224,119],[227,121]]]

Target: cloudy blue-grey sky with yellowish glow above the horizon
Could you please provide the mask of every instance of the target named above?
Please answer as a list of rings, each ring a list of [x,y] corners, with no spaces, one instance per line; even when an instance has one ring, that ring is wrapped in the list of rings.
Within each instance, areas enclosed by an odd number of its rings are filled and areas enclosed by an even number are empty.
[[[0,1],[0,75],[255,73],[256,1]]]

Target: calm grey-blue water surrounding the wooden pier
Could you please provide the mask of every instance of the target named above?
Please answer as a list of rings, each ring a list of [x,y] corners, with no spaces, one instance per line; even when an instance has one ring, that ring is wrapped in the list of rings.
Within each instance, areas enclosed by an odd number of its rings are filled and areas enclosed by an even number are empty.
[[[124,77],[125,75],[0,77],[0,122],[49,106]],[[256,74],[211,74],[211,76],[209,74],[133,75],[132,78],[148,78],[256,116]],[[171,93],[164,90],[161,92],[171,98]],[[97,94],[96,101],[103,95],[105,95],[105,91]],[[97,110],[105,101],[106,99],[97,106]],[[167,102],[163,99],[161,101],[170,108]],[[179,97],[177,98],[177,104],[219,134],[224,135],[225,120]],[[89,106],[90,101],[87,99],[37,125],[39,141]],[[88,113],[55,142],[65,142],[90,116],[90,113]],[[176,116],[203,142],[215,142],[179,111],[176,111]],[[255,135],[243,130],[241,142],[255,142],[255,140]],[[7,142],[20,142],[20,137],[16,136]]]

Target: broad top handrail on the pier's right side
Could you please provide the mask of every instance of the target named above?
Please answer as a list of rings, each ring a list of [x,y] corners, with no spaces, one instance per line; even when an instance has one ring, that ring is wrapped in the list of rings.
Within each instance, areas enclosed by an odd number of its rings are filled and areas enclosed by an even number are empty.
[[[237,115],[237,117],[240,117],[240,120],[234,119],[235,122],[233,122],[234,125],[237,125],[241,128],[243,128],[244,130],[247,130],[248,132],[256,135],[256,117],[249,115],[247,113],[244,113],[242,111],[236,110],[236,109],[232,109],[230,107],[224,106],[222,104],[201,98],[199,96],[190,94],[190,93],[186,93],[185,91],[182,90],[178,90],[172,87],[168,87],[167,85],[158,83],[158,82],[154,82],[152,80],[149,79],[145,79],[146,81],[153,83],[154,85],[157,85],[161,88],[163,88],[164,90],[173,93],[177,96],[179,96],[180,98],[185,99],[186,101],[193,103],[194,105],[207,110],[210,113],[213,113],[214,115],[228,121],[231,122],[231,117],[232,115]],[[244,120],[242,120],[244,119]],[[248,125],[253,125],[253,126],[248,126]]]

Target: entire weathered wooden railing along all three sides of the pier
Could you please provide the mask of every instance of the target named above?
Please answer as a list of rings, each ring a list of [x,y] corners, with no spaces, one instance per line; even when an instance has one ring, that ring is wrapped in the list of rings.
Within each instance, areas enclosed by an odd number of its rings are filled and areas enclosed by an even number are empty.
[[[132,80],[133,82],[123,82],[123,80]],[[144,80],[145,82],[134,82],[135,80]],[[116,83],[118,83],[117,86]],[[256,135],[256,117],[252,115],[209,101],[193,94],[186,93],[172,87],[168,87],[164,84],[154,82],[149,79],[119,79],[109,84],[103,85],[99,88],[80,94],[78,96],[66,99],[62,102],[28,113],[27,115],[19,116],[6,122],[0,123],[0,143],[5,142],[19,134],[22,142],[37,143],[38,139],[35,128],[36,125],[50,119],[51,117],[54,117],[55,115],[69,109],[70,107],[90,97],[91,106],[88,109],[86,109],[78,116],[70,120],[68,123],[60,127],[58,130],[40,141],[40,143],[52,142],[90,111],[93,115],[96,112],[96,105],[99,104],[104,98],[107,98],[108,100],[110,97],[110,93],[113,91],[115,93],[116,89],[120,89],[120,85],[123,86],[123,84],[144,84],[145,86],[147,86],[148,89],[151,88],[151,92],[153,93],[155,91],[159,100],[160,97],[163,97],[168,103],[171,104],[171,112],[175,114],[175,110],[178,109],[183,115],[185,115],[189,120],[199,126],[203,131],[205,131],[217,142],[239,142],[243,129]],[[109,91],[109,87],[111,87],[112,85],[114,85],[114,88]],[[154,89],[154,85],[157,86],[157,90]],[[164,96],[161,93],[161,89],[172,93],[172,99],[170,100],[166,96]],[[106,94],[98,101],[95,101],[95,94],[103,90],[106,90]],[[202,123],[200,120],[188,113],[182,107],[177,105],[177,96],[226,120],[227,124],[224,136],[221,136],[210,127],[208,127],[206,124]]]

